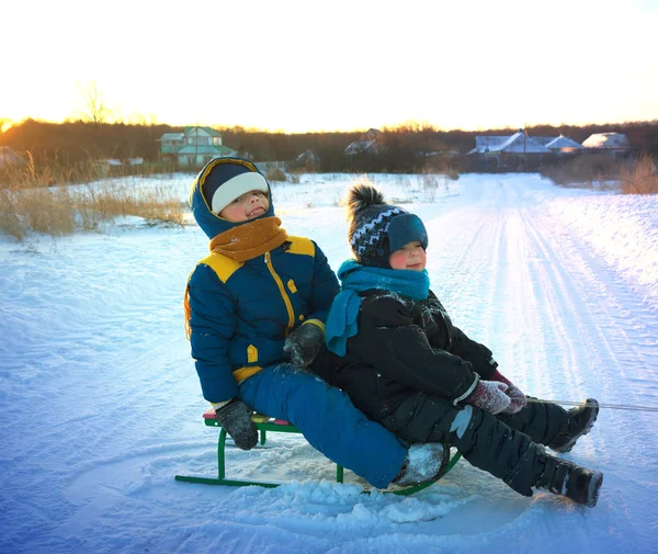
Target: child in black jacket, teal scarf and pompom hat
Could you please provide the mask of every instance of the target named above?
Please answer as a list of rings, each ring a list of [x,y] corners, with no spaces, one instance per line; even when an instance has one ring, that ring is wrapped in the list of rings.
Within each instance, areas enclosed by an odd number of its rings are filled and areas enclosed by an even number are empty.
[[[600,472],[560,460],[593,426],[598,403],[569,411],[527,403],[491,351],[455,327],[429,290],[420,218],[386,204],[368,184],[349,196],[355,256],[338,272],[342,292],[315,369],[368,418],[410,443],[445,442],[524,496],[532,488],[593,507]]]

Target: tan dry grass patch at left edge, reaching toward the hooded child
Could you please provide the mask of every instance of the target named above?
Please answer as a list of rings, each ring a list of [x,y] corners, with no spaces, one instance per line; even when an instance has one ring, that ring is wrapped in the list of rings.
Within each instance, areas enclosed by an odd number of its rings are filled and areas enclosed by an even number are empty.
[[[111,183],[82,190],[52,186],[54,182],[77,177],[73,171],[67,173],[58,165],[36,171],[31,160],[4,171],[0,188],[0,233],[19,241],[32,233],[57,237],[76,230],[97,230],[101,224],[126,215],[183,224],[183,203],[163,186],[141,189]]]

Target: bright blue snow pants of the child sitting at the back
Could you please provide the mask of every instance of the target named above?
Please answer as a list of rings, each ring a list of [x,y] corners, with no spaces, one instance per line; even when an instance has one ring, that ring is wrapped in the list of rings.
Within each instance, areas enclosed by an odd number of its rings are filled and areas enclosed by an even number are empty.
[[[250,376],[238,397],[258,412],[295,425],[313,448],[374,487],[386,488],[407,457],[400,440],[367,419],[345,393],[290,363]]]

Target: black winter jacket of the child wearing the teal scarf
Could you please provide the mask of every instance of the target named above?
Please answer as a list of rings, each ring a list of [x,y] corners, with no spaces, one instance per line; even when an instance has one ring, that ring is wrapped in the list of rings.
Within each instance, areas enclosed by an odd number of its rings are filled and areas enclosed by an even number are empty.
[[[402,403],[418,406],[410,397],[430,395],[456,406],[479,377],[496,371],[491,351],[452,324],[433,292],[420,302],[381,290],[361,296],[359,332],[348,340],[345,357],[326,350],[314,370],[368,418],[382,421]]]

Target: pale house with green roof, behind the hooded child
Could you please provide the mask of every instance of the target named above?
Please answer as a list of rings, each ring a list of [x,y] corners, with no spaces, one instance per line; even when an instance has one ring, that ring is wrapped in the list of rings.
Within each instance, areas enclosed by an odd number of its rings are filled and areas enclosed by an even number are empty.
[[[197,168],[213,158],[237,152],[222,144],[222,135],[212,127],[185,127],[183,133],[164,133],[160,138],[162,158],[174,159],[179,166]]]

